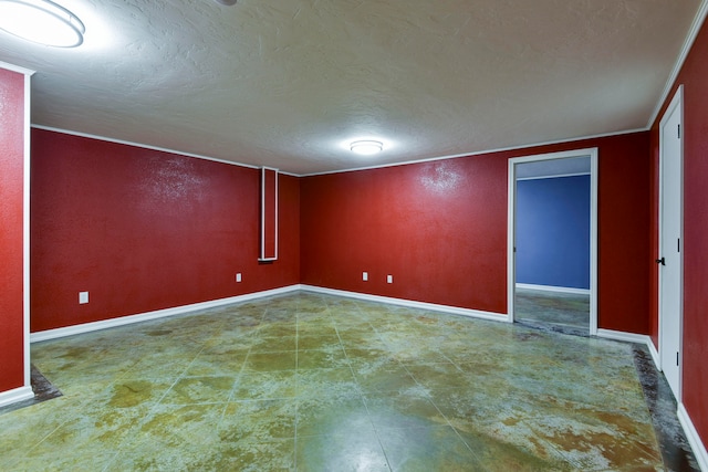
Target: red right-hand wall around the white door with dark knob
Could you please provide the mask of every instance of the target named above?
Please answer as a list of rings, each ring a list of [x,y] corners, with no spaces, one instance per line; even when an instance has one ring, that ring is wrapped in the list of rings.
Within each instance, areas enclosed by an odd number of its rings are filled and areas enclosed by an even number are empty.
[[[708,443],[708,25],[694,43],[664,108],[684,85],[684,353],[683,402],[704,444]],[[652,127],[654,174],[658,176],[659,117]],[[658,177],[654,187],[654,231],[658,238]],[[656,245],[653,247],[656,253]],[[656,281],[656,272],[654,280]],[[655,282],[656,284],[656,282]],[[654,285],[656,286],[656,285]],[[656,304],[656,289],[652,292]],[[658,315],[653,310],[654,342]]]

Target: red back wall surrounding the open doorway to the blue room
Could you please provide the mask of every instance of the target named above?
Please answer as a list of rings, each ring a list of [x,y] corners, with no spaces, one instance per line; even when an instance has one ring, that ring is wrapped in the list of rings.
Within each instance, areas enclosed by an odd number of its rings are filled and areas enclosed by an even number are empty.
[[[600,327],[647,334],[648,146],[637,133],[303,178],[302,282],[506,313],[508,159],[598,147]]]

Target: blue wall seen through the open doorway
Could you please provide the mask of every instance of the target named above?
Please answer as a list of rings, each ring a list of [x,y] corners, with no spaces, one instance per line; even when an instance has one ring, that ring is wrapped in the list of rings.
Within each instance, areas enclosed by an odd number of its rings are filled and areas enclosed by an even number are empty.
[[[590,176],[517,182],[517,283],[590,289]]]

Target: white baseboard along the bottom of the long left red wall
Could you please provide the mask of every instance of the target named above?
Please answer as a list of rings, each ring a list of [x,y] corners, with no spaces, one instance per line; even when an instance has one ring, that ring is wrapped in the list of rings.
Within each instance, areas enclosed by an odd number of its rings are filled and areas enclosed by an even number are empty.
[[[281,295],[284,293],[296,292],[300,285],[289,285],[280,289],[267,290],[263,292],[247,293],[243,295],[230,296],[228,298],[212,300],[209,302],[194,303],[191,305],[176,306],[174,308],[157,310],[155,312],[140,313],[137,315],[121,316],[117,318],[103,319],[100,322],[84,323],[81,325],[66,326],[63,328],[46,329],[32,333],[31,342],[39,343],[42,340],[56,339],[60,337],[73,336],[76,334],[91,333],[100,329],[107,329],[116,326],[128,325],[133,323],[147,322],[150,319],[165,318],[168,316],[183,315],[186,313],[197,312],[200,310],[215,308],[218,306],[230,305],[233,303],[242,303],[250,300],[263,298],[266,296]]]

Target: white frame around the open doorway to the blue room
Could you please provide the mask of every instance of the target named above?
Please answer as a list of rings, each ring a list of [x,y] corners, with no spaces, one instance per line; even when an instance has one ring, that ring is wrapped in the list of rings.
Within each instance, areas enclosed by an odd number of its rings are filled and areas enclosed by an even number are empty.
[[[514,157],[509,159],[509,212],[507,217],[507,318],[514,321],[517,165],[540,160],[590,157],[590,335],[597,335],[597,148]]]

